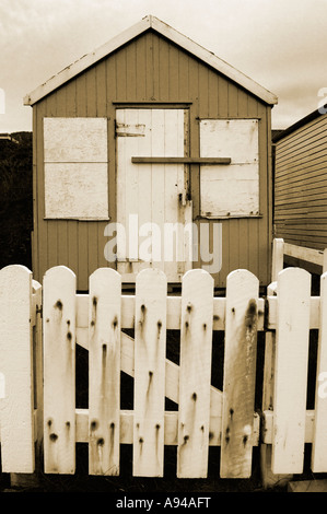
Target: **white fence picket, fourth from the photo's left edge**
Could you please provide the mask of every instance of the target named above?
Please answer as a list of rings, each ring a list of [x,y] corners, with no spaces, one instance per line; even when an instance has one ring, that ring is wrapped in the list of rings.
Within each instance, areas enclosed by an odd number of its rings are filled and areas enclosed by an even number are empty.
[[[137,276],[133,476],[163,476],[166,295],[162,271]]]

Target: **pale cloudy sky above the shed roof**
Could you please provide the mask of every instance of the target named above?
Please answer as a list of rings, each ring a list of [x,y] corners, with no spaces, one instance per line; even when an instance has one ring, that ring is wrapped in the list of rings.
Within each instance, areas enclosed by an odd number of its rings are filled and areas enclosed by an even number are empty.
[[[147,14],[275,93],[273,129],[327,102],[327,0],[0,0],[0,132],[32,130],[24,96]]]

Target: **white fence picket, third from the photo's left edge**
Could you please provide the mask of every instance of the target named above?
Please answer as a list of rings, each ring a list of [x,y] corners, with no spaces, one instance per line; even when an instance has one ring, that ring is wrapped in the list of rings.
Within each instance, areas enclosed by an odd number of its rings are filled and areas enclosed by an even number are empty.
[[[119,475],[121,277],[100,268],[89,295],[89,472]]]

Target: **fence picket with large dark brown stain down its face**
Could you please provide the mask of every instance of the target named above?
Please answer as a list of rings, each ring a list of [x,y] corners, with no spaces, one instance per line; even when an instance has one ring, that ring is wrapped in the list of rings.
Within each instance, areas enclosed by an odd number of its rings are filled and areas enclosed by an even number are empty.
[[[258,293],[259,281],[249,271],[240,269],[229,274],[220,465],[222,478],[248,478],[252,472]]]

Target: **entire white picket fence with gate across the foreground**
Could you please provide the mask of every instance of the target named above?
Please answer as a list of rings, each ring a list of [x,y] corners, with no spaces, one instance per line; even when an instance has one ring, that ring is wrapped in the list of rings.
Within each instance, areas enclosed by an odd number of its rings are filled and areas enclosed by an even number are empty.
[[[0,442],[2,471],[74,474],[75,443],[89,443],[90,475],[120,472],[132,444],[132,474],[162,477],[164,446],[177,446],[179,478],[205,478],[209,446],[220,477],[249,478],[253,446],[271,452],[272,474],[327,471],[327,274],[320,296],[311,276],[289,268],[259,297],[247,270],[214,296],[205,270],[186,272],[182,294],[165,274],[142,270],[124,294],[109,268],[79,294],[75,274],[49,269],[43,284],[23,266],[0,271]],[[133,328],[135,339],[121,329]],[[306,410],[310,329],[319,329],[315,410]],[[179,365],[166,359],[166,330],[180,330]],[[211,385],[212,331],[224,331],[222,392]],[[266,332],[262,412],[255,412],[257,332]],[[89,350],[89,408],[75,408],[75,344]],[[120,409],[120,372],[133,377],[133,409]],[[323,381],[323,382],[322,382]],[[165,397],[178,410],[165,410]],[[40,452],[42,446],[42,452]],[[269,462],[270,465],[270,462]],[[124,463],[121,463],[124,466]]]

